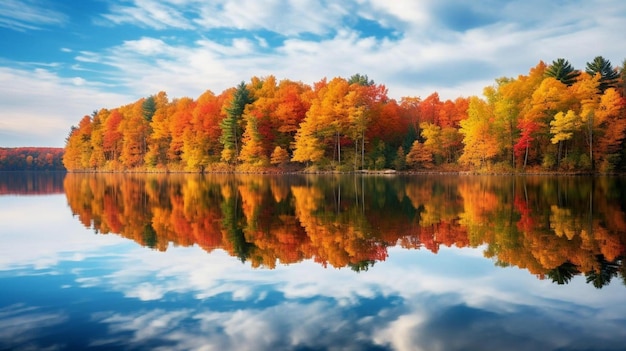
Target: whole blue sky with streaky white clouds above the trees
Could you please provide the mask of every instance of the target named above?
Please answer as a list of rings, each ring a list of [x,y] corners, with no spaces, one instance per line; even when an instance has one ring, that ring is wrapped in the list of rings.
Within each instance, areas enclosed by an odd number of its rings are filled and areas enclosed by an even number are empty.
[[[626,59],[623,0],[2,0],[0,147],[165,91],[359,73],[389,96],[482,94],[543,60]]]

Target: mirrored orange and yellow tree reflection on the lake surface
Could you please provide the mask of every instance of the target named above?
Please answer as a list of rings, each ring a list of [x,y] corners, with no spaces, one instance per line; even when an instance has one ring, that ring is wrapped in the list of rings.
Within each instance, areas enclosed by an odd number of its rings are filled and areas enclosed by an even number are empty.
[[[222,249],[253,267],[358,272],[390,247],[485,246],[497,265],[558,284],[626,277],[620,178],[68,174],[64,188],[97,233]]]

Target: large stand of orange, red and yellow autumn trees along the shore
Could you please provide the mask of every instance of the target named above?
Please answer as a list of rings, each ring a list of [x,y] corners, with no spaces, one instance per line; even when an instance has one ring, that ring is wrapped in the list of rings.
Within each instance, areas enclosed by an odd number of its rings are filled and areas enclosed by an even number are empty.
[[[253,77],[215,95],[165,92],[73,126],[69,171],[623,172],[626,61],[565,59],[484,97],[387,96],[367,75],[309,86]]]

